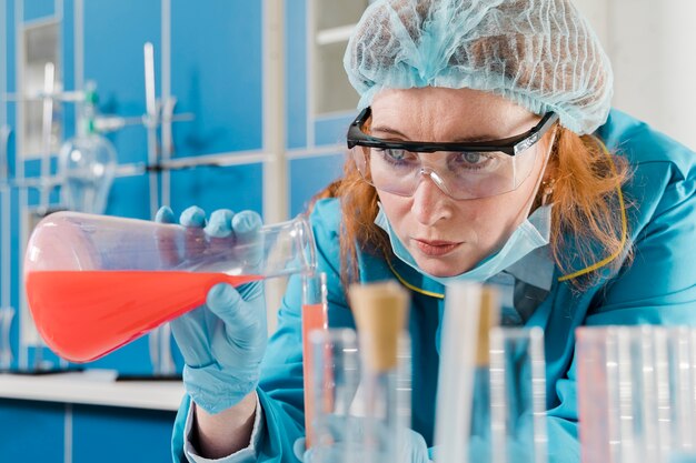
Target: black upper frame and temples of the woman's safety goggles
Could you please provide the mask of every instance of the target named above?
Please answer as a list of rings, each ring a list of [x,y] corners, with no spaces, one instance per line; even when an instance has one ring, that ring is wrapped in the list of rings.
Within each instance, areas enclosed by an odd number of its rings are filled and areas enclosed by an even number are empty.
[[[436,151],[500,151],[508,155],[516,155],[541,140],[541,137],[558,120],[558,114],[556,114],[555,112],[547,112],[541,118],[538,124],[536,124],[534,128],[529,129],[525,133],[520,133],[519,135],[508,137],[500,140],[475,141],[467,143],[437,143],[428,141],[424,142],[385,140],[377,137],[368,135],[362,131],[362,125],[365,124],[365,122],[367,122],[371,114],[371,108],[367,107],[360,112],[360,114],[358,114],[355,121],[350,123],[347,135],[349,150],[357,145],[360,145],[368,148],[406,150],[417,153],[434,153]]]

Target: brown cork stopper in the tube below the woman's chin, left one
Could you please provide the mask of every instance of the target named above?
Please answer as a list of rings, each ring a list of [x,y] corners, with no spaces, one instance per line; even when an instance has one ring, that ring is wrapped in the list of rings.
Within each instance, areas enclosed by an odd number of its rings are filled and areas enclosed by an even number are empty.
[[[366,365],[377,373],[395,369],[399,334],[406,328],[408,292],[389,281],[354,284],[349,295]]]

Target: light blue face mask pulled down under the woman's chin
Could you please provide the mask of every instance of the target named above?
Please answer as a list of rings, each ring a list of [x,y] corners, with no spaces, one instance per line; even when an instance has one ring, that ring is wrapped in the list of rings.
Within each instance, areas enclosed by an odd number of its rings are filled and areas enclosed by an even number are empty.
[[[401,243],[401,240],[399,240],[394,232],[381,205],[375,219],[375,223],[389,234],[391,249],[397,258],[412,266],[419,273],[447,286],[463,280],[484,282],[518,262],[531,251],[548,244],[551,228],[551,205],[553,204],[547,204],[538,208],[513,232],[503,249],[479,262],[468,272],[456,276],[432,276],[424,272],[404,243]]]

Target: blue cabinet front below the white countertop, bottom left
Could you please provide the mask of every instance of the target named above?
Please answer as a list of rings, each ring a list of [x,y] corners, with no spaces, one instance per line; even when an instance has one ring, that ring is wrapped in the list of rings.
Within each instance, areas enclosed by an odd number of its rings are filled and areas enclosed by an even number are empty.
[[[0,400],[3,462],[167,463],[175,412]]]

